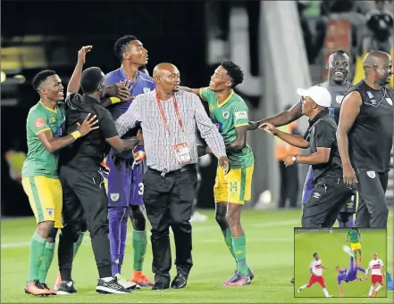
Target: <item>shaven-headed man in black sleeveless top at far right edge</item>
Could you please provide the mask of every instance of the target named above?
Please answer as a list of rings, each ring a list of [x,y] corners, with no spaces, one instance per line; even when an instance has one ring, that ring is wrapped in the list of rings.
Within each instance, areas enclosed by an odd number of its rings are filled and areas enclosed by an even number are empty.
[[[386,227],[389,209],[386,189],[393,137],[394,94],[387,87],[392,75],[388,53],[367,53],[365,79],[344,97],[338,125],[338,148],[344,183],[359,196],[356,227]]]

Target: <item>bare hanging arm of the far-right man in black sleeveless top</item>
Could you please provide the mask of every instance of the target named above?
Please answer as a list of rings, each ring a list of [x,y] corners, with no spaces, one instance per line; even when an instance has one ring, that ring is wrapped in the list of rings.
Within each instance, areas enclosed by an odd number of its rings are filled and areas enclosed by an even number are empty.
[[[348,156],[348,132],[353,127],[362,104],[361,95],[351,92],[345,96],[340,107],[340,122],[337,130],[338,150],[342,160],[343,179],[347,185],[356,185],[357,178]]]

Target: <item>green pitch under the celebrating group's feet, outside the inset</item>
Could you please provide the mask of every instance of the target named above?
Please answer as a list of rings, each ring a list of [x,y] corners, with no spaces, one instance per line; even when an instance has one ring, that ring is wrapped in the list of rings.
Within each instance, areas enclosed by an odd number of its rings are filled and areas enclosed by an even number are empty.
[[[242,224],[247,234],[247,263],[255,271],[251,285],[222,286],[234,270],[235,263],[226,248],[222,232],[214,221],[213,211],[202,211],[209,219],[193,224],[193,262],[189,285],[182,290],[152,292],[143,289],[128,295],[100,295],[94,292],[97,282],[95,259],[88,235],[74,261],[73,278],[78,294],[35,298],[23,292],[29,269],[29,240],[35,229],[33,218],[2,221],[1,301],[25,303],[324,303],[327,300],[294,298],[289,279],[293,275],[293,227],[299,225],[300,211],[246,210]],[[390,218],[392,227],[392,218]],[[129,227],[131,232],[131,226]],[[392,228],[389,237],[392,243]],[[128,235],[123,275],[131,275],[131,233]],[[173,247],[172,247],[173,248]],[[174,252],[174,251],[172,251]],[[342,254],[342,252],[340,252]],[[392,264],[392,248],[388,263]],[[172,257],[172,260],[174,256]],[[152,254],[148,244],[144,272],[151,273]],[[324,260],[323,260],[324,261]],[[309,260],[307,263],[310,262]],[[302,265],[301,267],[306,267]],[[57,259],[47,276],[52,287],[57,273]],[[390,269],[392,270],[392,269]],[[172,268],[172,277],[175,269]],[[386,303],[391,299],[367,299],[368,303]],[[331,303],[363,303],[363,299],[330,299]],[[366,301],[365,301],[366,302]]]

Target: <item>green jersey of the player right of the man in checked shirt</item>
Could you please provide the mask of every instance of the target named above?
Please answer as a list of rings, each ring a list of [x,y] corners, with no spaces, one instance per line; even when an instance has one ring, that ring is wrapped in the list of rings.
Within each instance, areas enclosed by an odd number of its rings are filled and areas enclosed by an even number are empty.
[[[223,137],[224,144],[230,144],[236,139],[235,128],[247,126],[249,119],[247,103],[231,91],[231,94],[221,104],[217,102],[216,94],[208,87],[201,88],[200,97],[209,105],[211,120],[218,127]],[[249,144],[239,152],[228,152],[231,168],[247,168],[254,164],[255,157]]]

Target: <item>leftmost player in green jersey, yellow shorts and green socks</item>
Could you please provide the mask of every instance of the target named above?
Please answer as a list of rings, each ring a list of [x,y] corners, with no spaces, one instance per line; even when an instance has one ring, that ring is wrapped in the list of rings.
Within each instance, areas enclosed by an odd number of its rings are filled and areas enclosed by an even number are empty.
[[[64,117],[56,102],[63,100],[62,80],[54,70],[42,70],[33,78],[40,101],[30,108],[26,132],[28,155],[22,168],[22,186],[37,220],[30,243],[29,278],[25,292],[56,294],[46,285],[46,274],[54,258],[57,228],[63,228],[63,191],[57,175],[58,150],[95,129],[96,116],[86,117],[77,130],[63,136]]]

